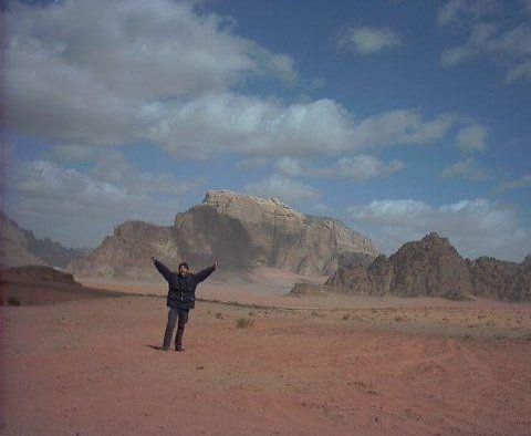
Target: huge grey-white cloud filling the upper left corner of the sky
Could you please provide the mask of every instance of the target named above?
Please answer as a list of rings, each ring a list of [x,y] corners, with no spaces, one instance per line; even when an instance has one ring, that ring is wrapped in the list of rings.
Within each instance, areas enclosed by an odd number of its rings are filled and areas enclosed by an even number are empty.
[[[292,81],[293,61],[169,0],[12,3],[6,118],[62,144],[138,141],[152,104],[225,92],[249,74]]]

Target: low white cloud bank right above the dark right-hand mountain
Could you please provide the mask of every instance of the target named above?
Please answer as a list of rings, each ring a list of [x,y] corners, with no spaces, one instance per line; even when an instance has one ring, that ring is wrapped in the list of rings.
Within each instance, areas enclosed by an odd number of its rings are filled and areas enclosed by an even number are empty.
[[[448,237],[461,256],[494,256],[522,261],[531,247],[529,229],[516,210],[485,198],[434,207],[413,199],[374,200],[351,206],[356,224],[371,226],[376,242],[388,253],[430,231]]]

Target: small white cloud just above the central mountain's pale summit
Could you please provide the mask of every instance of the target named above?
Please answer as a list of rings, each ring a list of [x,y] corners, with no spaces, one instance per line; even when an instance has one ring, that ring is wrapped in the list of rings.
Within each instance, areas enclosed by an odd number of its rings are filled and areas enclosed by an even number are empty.
[[[321,197],[320,193],[310,185],[279,174],[273,174],[263,180],[248,184],[243,190],[260,197],[278,198],[288,204],[317,201]]]

